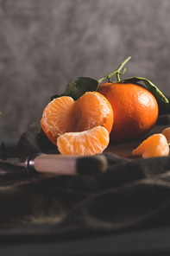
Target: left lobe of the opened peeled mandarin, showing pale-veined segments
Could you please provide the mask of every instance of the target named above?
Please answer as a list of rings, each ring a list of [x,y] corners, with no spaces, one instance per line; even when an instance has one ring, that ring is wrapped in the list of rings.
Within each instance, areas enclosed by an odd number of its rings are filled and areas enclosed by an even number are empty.
[[[48,103],[41,118],[42,130],[54,144],[60,134],[71,130],[71,112],[74,100],[68,96],[56,98]]]

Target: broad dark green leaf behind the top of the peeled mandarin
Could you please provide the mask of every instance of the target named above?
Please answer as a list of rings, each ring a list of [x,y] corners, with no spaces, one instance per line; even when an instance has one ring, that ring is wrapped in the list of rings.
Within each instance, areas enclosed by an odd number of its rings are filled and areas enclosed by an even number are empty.
[[[72,99],[77,100],[85,92],[95,92],[98,88],[98,81],[89,77],[79,77],[72,80],[67,86],[65,93],[60,95],[55,94],[50,98],[53,100],[61,96],[70,96]]]

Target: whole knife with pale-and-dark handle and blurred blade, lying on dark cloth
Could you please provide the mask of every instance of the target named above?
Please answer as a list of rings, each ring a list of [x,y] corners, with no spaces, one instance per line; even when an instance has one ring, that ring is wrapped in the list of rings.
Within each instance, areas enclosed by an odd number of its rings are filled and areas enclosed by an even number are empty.
[[[98,176],[107,170],[107,158],[94,156],[63,156],[60,154],[33,154],[23,163],[0,160],[0,178],[16,179],[40,173],[70,176]]]

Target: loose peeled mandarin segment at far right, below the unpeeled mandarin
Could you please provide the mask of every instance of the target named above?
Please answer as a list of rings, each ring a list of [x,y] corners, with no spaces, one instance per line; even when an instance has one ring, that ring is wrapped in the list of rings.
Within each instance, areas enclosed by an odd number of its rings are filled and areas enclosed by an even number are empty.
[[[142,155],[143,158],[148,157],[165,157],[169,154],[169,146],[167,138],[161,133],[154,134],[144,140],[135,150],[133,155]]]

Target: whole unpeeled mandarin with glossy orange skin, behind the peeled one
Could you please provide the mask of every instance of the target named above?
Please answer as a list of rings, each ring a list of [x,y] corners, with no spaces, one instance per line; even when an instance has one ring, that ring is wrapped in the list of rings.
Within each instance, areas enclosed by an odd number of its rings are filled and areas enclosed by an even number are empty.
[[[110,101],[113,109],[110,141],[138,138],[154,127],[158,118],[158,104],[146,87],[108,82],[98,86],[98,93]]]

